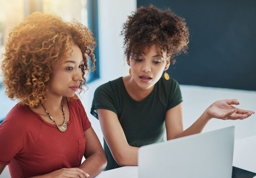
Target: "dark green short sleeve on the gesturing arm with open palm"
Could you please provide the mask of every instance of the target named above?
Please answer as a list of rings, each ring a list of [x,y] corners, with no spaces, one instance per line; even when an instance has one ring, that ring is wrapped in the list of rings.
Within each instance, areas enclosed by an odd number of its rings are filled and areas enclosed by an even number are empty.
[[[179,83],[175,79],[173,79],[172,84],[171,84],[170,94],[169,94],[167,110],[177,106],[182,101],[183,100],[182,100],[182,95],[181,95],[181,88],[179,88]]]

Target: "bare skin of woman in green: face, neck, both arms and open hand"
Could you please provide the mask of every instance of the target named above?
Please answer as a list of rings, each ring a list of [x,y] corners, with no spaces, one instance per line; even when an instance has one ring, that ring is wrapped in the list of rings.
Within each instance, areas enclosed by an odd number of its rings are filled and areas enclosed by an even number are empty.
[[[127,60],[131,67],[132,75],[123,77],[123,82],[128,94],[136,101],[142,101],[153,90],[155,83],[159,81],[164,70],[169,67],[169,58],[162,52],[162,62],[155,64],[155,57],[160,55],[156,45],[152,45],[147,55],[137,54]],[[152,79],[143,82],[142,75],[149,75]],[[200,133],[211,118],[222,120],[237,120],[251,116],[254,112],[235,108],[231,105],[239,105],[233,100],[220,100],[209,106],[204,113],[188,129],[183,131],[182,103],[166,112],[165,125],[167,139],[179,138],[186,135]],[[138,147],[131,147],[127,143],[125,134],[118,120],[117,114],[107,109],[97,109],[101,130],[109,149],[120,166],[138,165]],[[112,129],[115,128],[115,129]]]

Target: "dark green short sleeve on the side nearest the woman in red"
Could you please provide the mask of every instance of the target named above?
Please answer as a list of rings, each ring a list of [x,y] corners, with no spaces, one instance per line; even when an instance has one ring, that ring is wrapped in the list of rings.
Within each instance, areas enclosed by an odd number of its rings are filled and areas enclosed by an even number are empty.
[[[111,110],[117,114],[116,95],[110,82],[99,86],[94,92],[94,99],[92,101],[91,114],[98,118],[97,109]]]

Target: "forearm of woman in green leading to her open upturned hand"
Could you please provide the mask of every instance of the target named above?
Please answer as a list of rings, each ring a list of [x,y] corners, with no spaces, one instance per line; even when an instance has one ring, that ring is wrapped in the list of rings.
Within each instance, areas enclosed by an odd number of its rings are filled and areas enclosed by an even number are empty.
[[[182,136],[187,136],[187,135],[192,135],[192,134],[198,134],[201,133],[201,131],[204,129],[205,125],[207,124],[207,122],[211,120],[211,118],[204,112],[199,118],[198,120],[196,120],[190,127],[188,127],[186,130],[184,130],[183,132],[176,134],[174,136],[174,138],[179,138]],[[174,139],[174,138],[168,138],[168,140],[170,139]]]

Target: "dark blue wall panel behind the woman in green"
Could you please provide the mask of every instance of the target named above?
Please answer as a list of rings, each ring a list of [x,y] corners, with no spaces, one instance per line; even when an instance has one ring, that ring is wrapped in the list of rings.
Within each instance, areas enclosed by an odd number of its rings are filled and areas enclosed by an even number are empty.
[[[256,90],[255,0],[137,0],[170,7],[190,29],[188,55],[168,70],[180,84]]]

